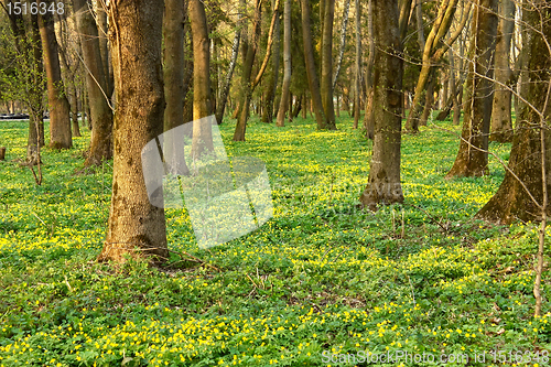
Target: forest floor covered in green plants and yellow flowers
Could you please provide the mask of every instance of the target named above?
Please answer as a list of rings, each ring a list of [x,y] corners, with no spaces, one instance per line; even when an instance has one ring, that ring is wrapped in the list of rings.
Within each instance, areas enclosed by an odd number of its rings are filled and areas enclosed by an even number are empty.
[[[441,128],[460,129],[437,122],[403,136],[404,205],[359,211],[371,142],[337,122],[252,119],[247,142],[231,141],[235,121],[220,127],[228,155],[266,162],[274,217],[199,250],[185,209],[166,209],[170,248],[217,271],[177,253],[161,269],[97,263],[112,162],[76,174],[83,129],[74,149],[43,150],[36,186],[17,162],[28,123],[0,121],[0,366],[548,365],[551,274],[534,319],[534,224],[473,219],[499,163],[444,180],[458,139]],[[507,160],[510,144],[490,149]]]

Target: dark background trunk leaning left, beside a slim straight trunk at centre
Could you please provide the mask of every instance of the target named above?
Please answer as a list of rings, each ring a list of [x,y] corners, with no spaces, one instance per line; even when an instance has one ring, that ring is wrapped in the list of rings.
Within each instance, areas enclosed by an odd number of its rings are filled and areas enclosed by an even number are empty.
[[[314,61],[314,45],[312,42],[312,29],[310,21],[310,1],[301,0],[302,9],[302,40],[304,43],[304,62],[306,64],[306,74],[312,95],[312,108],[314,110],[317,129],[328,129],[325,112],[323,110],[322,95],[320,94],[320,80],[317,78],[317,68]]]

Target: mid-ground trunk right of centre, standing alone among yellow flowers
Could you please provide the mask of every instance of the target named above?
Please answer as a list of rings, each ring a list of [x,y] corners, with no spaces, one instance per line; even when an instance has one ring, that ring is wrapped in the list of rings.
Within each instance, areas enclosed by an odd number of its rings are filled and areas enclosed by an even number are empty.
[[[359,201],[363,207],[375,211],[378,204],[403,202],[400,183],[403,56],[398,0],[374,0],[372,4],[375,138],[368,184]]]

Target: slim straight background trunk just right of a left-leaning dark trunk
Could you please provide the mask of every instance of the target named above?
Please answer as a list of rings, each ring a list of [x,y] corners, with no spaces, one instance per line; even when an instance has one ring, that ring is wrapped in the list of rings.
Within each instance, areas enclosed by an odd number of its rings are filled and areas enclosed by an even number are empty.
[[[322,79],[320,93],[322,95],[323,111],[329,130],[335,130],[335,107],[333,106],[333,19],[335,15],[335,0],[325,0],[322,39]]]

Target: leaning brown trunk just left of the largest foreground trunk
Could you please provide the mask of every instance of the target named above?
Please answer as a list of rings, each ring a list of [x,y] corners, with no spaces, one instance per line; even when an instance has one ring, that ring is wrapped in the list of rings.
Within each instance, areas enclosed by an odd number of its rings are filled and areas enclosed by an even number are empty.
[[[108,104],[108,87],[99,48],[98,29],[89,12],[91,3],[89,0],[75,0],[74,7],[83,44],[89,116],[93,127],[90,149],[84,164],[86,166],[99,165],[102,160],[112,158],[112,111]],[[117,52],[121,52],[121,50],[119,48]],[[117,100],[119,99],[117,98]]]

